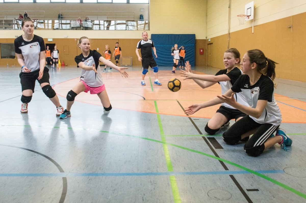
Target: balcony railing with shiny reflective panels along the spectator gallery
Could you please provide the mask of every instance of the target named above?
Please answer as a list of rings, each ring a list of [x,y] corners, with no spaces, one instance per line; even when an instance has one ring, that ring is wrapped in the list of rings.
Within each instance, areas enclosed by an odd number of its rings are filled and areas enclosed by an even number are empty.
[[[32,19],[35,30],[149,30],[149,20]],[[19,19],[0,19],[0,30],[21,30]]]

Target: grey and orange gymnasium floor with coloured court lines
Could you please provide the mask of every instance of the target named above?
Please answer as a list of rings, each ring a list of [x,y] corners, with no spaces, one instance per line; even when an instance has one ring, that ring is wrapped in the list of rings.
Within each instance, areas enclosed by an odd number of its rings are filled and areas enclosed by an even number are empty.
[[[251,157],[243,142],[222,141],[228,127],[206,135],[218,106],[184,114],[185,107],[219,95],[218,84],[203,90],[178,70],[160,67],[163,85],[153,84],[149,70],[141,86],[140,69],[130,67],[128,78],[103,72],[113,106],[108,114],[96,95],[81,93],[72,116],[60,120],[37,82],[29,112],[21,114],[20,68],[0,67],[0,202],[306,201],[306,83],[276,80],[281,127],[293,139],[289,151],[276,144]],[[197,73],[218,70],[196,67]],[[49,73],[65,108],[80,69]],[[167,89],[172,77],[182,82],[176,93]]]

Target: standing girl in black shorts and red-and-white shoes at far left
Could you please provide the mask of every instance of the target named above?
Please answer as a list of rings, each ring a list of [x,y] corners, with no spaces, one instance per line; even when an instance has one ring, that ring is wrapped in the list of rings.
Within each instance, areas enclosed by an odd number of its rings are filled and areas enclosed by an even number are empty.
[[[37,80],[43,93],[57,107],[56,116],[59,116],[64,109],[59,103],[55,91],[50,86],[49,69],[45,67],[45,43],[43,38],[33,34],[34,23],[29,17],[22,21],[21,27],[24,34],[14,41],[17,60],[21,66],[21,73],[19,74],[22,89],[20,112],[28,113],[28,103],[32,100],[35,81]]]

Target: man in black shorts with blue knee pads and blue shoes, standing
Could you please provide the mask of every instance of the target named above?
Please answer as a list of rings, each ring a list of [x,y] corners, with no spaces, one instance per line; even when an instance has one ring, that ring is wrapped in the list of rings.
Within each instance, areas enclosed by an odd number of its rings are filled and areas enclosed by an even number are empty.
[[[139,49],[141,53],[141,57],[139,55]],[[141,61],[142,64],[142,80],[141,85],[146,85],[144,82],[144,77],[146,76],[148,72],[149,66],[153,69],[155,81],[154,84],[162,85],[158,80],[158,66],[153,58],[152,50],[154,51],[155,58],[157,58],[156,55],[156,49],[154,47],[154,43],[152,40],[148,39],[148,33],[144,31],[142,33],[142,40],[140,40],[136,47],[136,55],[138,56],[138,61]]]

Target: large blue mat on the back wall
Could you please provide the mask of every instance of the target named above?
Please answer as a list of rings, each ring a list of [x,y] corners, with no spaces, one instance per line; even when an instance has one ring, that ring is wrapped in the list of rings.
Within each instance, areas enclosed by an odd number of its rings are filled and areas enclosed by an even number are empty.
[[[156,48],[157,59],[155,61],[158,66],[173,66],[171,48],[174,44],[178,45],[177,48],[184,45],[186,49],[185,62],[189,61],[191,66],[195,66],[196,34],[151,34],[151,39]],[[180,62],[178,62],[178,66],[180,66]]]

